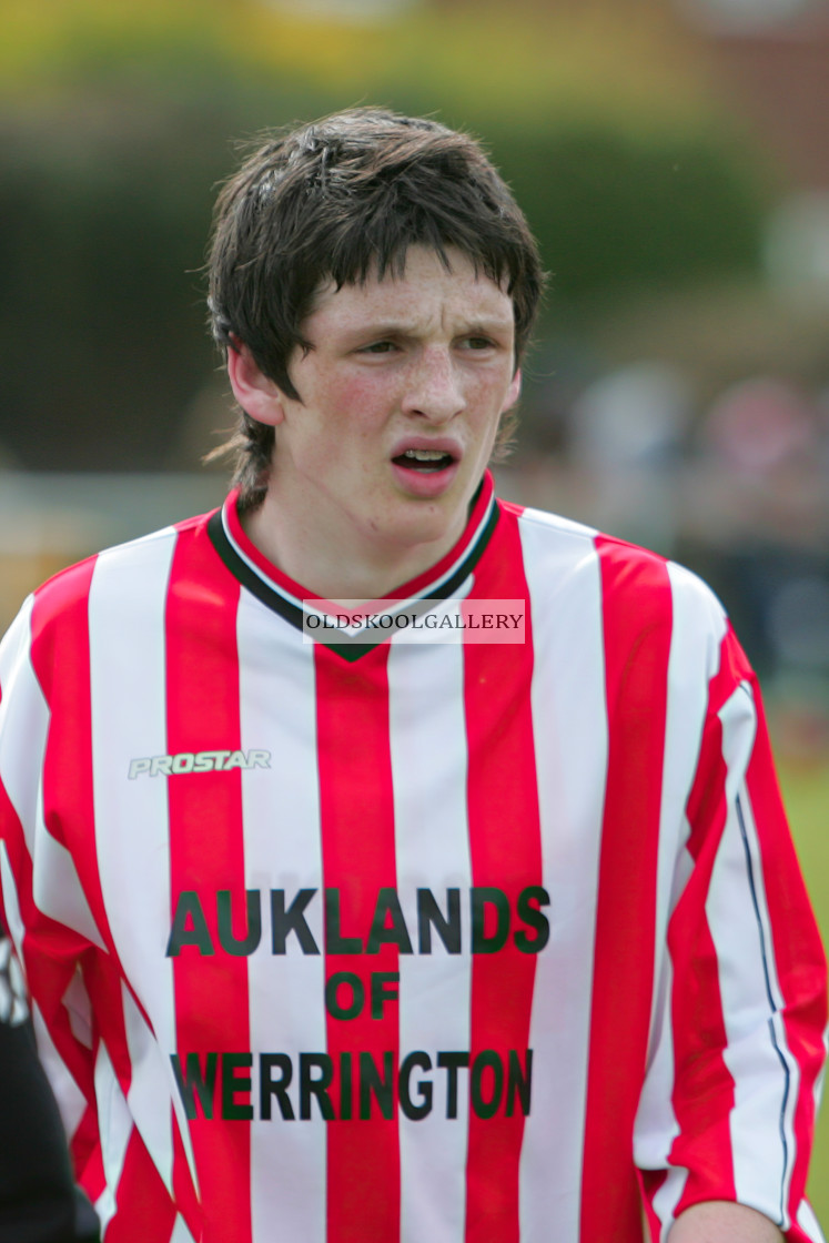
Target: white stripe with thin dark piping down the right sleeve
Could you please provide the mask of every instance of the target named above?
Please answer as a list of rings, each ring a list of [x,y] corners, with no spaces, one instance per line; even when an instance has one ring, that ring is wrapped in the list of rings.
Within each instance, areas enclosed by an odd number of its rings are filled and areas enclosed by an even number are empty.
[[[706,915],[717,951],[728,1039],[723,1059],[735,1079],[735,1108],[730,1120],[735,1186],[741,1201],[753,1204],[772,1221],[779,1221],[788,1208],[795,1155],[792,1111],[799,1073],[785,1045],[781,1014],[773,1014],[782,1009],[783,999],[774,966],[757,834],[742,787],[756,731],[754,705],[747,687],[735,691],[720,717],[723,758],[728,767],[728,815],[711,876]]]

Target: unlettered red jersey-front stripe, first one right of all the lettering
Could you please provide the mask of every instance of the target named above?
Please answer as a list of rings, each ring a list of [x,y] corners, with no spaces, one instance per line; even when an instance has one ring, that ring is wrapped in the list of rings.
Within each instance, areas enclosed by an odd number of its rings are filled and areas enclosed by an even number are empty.
[[[641,1238],[633,1126],[654,976],[656,859],[671,589],[656,557],[597,541],[603,590],[608,774],[595,922],[582,1243]]]

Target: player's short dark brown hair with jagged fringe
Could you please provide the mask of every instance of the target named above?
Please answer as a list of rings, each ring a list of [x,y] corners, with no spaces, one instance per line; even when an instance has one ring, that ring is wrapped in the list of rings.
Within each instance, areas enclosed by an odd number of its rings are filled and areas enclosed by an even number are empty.
[[[309,349],[302,324],[327,281],[401,276],[411,245],[449,267],[456,247],[512,298],[516,367],[543,288],[536,241],[481,145],[434,121],[355,108],[260,137],[216,201],[208,264],[218,344],[250,349],[260,370],[300,398],[293,351]],[[225,355],[226,357],[226,355]],[[261,502],[273,429],[239,414],[215,454],[235,451],[242,507]],[[512,425],[502,424],[500,444]],[[214,456],[211,455],[211,456]]]

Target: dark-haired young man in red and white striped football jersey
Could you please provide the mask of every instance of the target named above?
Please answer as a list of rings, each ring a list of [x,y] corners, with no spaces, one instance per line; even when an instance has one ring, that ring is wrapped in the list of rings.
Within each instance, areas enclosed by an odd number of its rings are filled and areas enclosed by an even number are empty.
[[[227,183],[210,276],[227,502],[0,653],[5,911],[107,1243],[820,1239],[752,672],[694,576],[492,495],[508,190],[343,113]]]

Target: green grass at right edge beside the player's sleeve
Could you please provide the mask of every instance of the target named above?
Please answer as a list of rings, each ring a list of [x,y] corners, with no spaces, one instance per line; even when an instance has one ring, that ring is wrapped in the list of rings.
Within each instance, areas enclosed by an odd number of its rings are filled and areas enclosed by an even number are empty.
[[[798,768],[781,764],[781,784],[803,873],[824,945],[829,946],[829,764]],[[818,1120],[809,1197],[824,1232],[829,1229],[829,1104]]]

